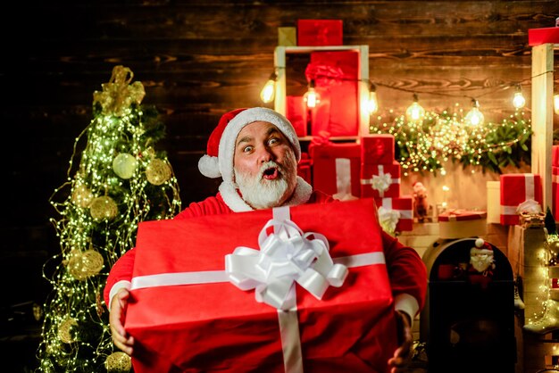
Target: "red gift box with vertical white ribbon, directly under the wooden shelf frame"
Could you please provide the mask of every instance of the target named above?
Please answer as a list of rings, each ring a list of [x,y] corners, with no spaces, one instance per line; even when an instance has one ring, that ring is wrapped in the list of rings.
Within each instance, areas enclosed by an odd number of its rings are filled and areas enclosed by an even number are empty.
[[[313,160],[313,188],[338,199],[361,196],[359,176],[361,159],[356,143],[311,143],[309,154]]]

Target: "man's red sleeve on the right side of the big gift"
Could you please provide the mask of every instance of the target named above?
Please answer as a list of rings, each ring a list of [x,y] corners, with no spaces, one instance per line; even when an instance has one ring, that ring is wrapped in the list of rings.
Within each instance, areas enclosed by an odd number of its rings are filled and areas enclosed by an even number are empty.
[[[410,294],[417,300],[420,310],[427,294],[427,269],[419,254],[402,245],[395,237],[382,231],[382,245],[387,261],[392,294]]]

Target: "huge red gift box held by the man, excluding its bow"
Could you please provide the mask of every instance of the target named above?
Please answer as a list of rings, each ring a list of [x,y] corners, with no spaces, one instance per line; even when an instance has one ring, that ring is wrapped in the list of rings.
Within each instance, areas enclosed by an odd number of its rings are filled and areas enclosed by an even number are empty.
[[[292,350],[307,373],[386,372],[396,320],[374,208],[360,199],[140,223],[125,321],[135,371],[280,373],[297,366],[284,361]],[[292,229],[279,216],[286,211],[302,237],[326,236],[348,274],[321,300],[297,282],[296,305],[281,311],[229,283],[224,269],[226,256],[229,264],[234,252],[262,253],[276,242],[259,237],[271,222],[278,237]]]

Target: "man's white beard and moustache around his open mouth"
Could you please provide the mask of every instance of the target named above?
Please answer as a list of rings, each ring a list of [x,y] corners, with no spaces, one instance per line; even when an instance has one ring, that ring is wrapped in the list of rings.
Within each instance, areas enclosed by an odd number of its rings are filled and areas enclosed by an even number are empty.
[[[263,178],[264,170],[275,167],[279,178]],[[254,209],[269,209],[280,206],[288,200],[296,186],[296,159],[293,152],[287,152],[283,165],[269,161],[263,163],[255,177],[234,170],[235,181],[243,199]]]

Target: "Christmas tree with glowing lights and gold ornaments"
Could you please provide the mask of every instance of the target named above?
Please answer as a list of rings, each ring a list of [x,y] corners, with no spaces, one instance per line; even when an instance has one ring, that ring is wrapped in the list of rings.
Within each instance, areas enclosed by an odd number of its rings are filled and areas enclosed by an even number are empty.
[[[132,78],[129,68],[116,66],[94,93],[93,120],[76,139],[67,181],[50,199],[61,253],[43,269],[53,292],[43,309],[39,371],[131,369],[129,356],[113,345],[104,284],[114,262],[134,246],[140,221],[180,211],[177,179],[166,154],[154,148],[163,123],[154,108],[140,104],[144,86],[130,84]]]

